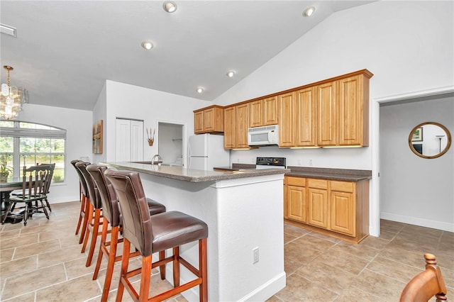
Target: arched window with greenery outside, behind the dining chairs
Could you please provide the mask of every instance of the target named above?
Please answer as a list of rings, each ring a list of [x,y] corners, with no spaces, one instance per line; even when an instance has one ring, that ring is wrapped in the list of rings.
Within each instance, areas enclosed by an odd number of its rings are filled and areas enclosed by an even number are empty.
[[[52,182],[65,181],[66,130],[37,123],[0,121],[0,155],[8,157],[13,177],[23,165],[55,163]]]

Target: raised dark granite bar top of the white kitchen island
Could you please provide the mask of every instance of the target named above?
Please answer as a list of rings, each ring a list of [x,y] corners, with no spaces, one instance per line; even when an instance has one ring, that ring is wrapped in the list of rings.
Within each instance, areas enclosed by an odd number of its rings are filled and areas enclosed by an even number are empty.
[[[137,162],[102,162],[106,166],[116,167],[140,173],[146,173],[159,177],[178,179],[190,182],[218,181],[224,179],[240,179],[246,177],[260,177],[272,174],[284,174],[290,172],[289,169],[248,169],[248,170],[231,170],[231,171],[204,171],[196,169],[186,169],[183,167],[160,166],[157,164],[142,164]],[[255,164],[254,164],[255,167]]]

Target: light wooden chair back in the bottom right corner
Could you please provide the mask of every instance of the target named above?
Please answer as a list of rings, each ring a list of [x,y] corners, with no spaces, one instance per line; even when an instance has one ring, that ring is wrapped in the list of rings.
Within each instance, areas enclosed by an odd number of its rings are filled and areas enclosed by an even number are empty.
[[[424,254],[426,270],[414,276],[404,287],[400,302],[428,301],[436,296],[436,301],[446,301],[446,284],[435,256]]]

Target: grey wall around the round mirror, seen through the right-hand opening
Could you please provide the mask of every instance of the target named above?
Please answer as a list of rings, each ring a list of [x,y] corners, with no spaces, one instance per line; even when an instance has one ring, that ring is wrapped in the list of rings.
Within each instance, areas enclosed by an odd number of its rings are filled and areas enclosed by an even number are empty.
[[[425,159],[408,144],[411,130],[427,121],[441,123],[452,135],[454,98],[380,106],[380,216],[454,231],[454,147]]]

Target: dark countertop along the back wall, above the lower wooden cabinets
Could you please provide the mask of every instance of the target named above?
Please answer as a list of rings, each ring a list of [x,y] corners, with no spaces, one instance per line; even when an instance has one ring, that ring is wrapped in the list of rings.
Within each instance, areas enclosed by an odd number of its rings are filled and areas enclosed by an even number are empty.
[[[360,181],[372,179],[371,170],[356,170],[356,169],[330,169],[330,168],[315,168],[315,167],[287,167],[290,172],[285,173],[287,176],[293,177],[310,177],[320,179],[336,179],[345,181]]]

